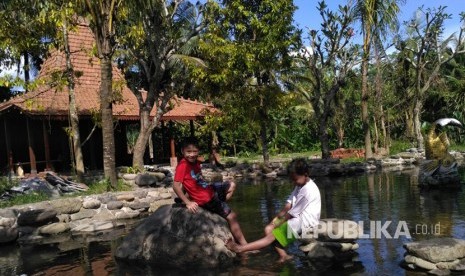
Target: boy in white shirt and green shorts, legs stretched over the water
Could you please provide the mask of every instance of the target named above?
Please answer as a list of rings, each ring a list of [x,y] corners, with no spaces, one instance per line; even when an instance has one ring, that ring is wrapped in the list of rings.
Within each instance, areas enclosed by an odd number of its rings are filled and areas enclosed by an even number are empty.
[[[226,247],[236,253],[258,250],[272,243],[279,254],[281,262],[290,258],[285,247],[319,224],[321,212],[320,191],[309,177],[309,165],[304,158],[291,161],[287,168],[288,175],[294,183],[294,190],[284,208],[265,227],[265,237],[239,245],[232,239]]]

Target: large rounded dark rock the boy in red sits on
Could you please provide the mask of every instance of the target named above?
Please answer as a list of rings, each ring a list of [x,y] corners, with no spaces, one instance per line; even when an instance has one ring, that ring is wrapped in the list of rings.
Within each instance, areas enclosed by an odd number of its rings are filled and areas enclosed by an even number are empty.
[[[223,267],[235,257],[224,245],[228,238],[229,226],[220,216],[164,205],[124,238],[115,256],[163,267]]]

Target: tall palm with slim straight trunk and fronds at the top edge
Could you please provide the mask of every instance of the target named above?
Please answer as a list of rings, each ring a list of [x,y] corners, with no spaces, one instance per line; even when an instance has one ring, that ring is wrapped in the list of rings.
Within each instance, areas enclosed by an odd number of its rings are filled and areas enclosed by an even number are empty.
[[[372,42],[384,37],[389,29],[397,27],[398,3],[404,0],[352,0],[354,18],[360,20],[363,35],[362,56],[362,124],[365,140],[365,158],[373,155],[371,149],[370,115],[368,112],[368,65]]]

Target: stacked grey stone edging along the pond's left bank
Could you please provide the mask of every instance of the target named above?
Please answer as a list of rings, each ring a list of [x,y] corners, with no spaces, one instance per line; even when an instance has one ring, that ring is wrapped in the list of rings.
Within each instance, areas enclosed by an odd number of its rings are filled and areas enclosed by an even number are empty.
[[[118,227],[121,221],[173,203],[172,188],[136,188],[0,209],[0,244],[38,242],[71,231],[89,233]]]

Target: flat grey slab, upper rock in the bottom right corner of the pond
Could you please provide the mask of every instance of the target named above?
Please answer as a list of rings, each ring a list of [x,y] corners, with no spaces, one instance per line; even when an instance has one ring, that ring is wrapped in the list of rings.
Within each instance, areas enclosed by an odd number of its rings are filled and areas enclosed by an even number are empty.
[[[436,238],[404,244],[410,255],[432,263],[454,261],[465,257],[465,240]]]

